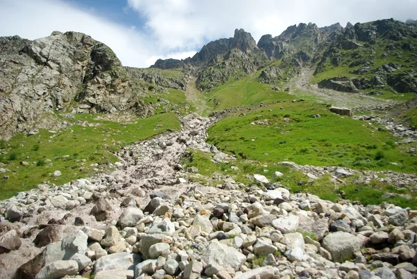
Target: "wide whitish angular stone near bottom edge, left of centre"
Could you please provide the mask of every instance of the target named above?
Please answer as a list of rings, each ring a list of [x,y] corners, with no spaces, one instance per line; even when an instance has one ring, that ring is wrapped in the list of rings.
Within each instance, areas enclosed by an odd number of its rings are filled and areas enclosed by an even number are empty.
[[[127,252],[116,253],[100,257],[95,262],[95,272],[98,273],[104,270],[112,269],[134,269],[134,266],[140,262],[140,256],[138,254],[132,254]]]

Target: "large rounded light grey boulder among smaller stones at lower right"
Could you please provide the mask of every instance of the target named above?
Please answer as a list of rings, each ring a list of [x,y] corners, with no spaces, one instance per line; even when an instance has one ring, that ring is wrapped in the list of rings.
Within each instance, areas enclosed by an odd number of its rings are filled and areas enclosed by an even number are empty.
[[[322,247],[332,254],[334,262],[345,262],[345,260],[351,259],[361,246],[361,239],[347,232],[327,234],[322,240]]]

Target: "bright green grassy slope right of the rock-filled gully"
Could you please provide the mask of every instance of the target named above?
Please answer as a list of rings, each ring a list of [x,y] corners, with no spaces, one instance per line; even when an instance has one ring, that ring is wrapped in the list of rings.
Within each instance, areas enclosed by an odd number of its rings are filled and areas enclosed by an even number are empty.
[[[311,118],[314,114],[321,117]],[[267,125],[251,124],[256,121]],[[412,144],[387,145],[398,138],[377,127],[331,113],[325,105],[286,102],[217,122],[208,129],[208,143],[256,161],[416,173],[416,157],[406,152]]]

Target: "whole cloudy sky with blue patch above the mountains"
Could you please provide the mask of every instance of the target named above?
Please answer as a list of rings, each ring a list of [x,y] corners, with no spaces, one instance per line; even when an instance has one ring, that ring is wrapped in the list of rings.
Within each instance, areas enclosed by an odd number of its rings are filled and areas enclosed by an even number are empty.
[[[327,26],[416,19],[416,0],[0,0],[0,36],[34,40],[79,31],[111,47],[123,65],[186,58],[243,28],[257,41],[300,22]]]

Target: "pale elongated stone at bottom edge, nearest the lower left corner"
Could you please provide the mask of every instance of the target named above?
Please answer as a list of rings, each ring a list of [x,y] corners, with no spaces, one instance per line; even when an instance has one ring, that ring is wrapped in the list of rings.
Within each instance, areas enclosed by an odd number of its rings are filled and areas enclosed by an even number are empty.
[[[78,271],[79,265],[76,261],[59,260],[44,266],[36,275],[35,279],[63,278],[64,276],[75,275]]]

